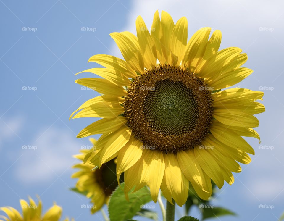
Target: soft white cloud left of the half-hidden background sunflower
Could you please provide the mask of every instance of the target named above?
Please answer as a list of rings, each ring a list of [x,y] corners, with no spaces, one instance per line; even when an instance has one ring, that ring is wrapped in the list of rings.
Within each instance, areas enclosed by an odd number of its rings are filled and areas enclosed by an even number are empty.
[[[50,128],[45,133],[43,130],[21,150],[24,155],[17,163],[16,176],[26,184],[57,178],[70,170],[75,162],[72,155],[78,154],[83,144],[69,130]]]

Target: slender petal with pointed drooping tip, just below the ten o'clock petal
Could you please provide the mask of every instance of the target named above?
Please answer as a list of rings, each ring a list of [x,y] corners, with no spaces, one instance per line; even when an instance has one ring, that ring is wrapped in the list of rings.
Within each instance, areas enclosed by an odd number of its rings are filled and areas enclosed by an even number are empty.
[[[131,81],[121,72],[116,72],[114,69],[110,68],[90,68],[84,71],[77,73],[76,75],[84,72],[90,72],[96,75],[99,75],[102,78],[105,78],[109,82],[119,85],[119,86],[128,86],[131,84]]]

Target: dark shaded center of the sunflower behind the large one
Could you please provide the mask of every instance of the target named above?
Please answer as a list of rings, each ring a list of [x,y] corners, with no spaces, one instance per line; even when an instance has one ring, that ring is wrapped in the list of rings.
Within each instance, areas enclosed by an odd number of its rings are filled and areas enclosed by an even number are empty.
[[[120,176],[120,183],[124,182],[123,174]],[[104,163],[101,169],[95,170],[95,178],[100,187],[104,190],[106,196],[110,196],[111,193],[118,186],[116,177],[116,164],[113,160]]]

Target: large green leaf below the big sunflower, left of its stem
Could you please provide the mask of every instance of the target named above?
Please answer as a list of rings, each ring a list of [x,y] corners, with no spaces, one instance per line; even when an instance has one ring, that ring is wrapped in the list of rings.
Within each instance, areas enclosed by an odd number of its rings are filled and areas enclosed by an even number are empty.
[[[109,199],[109,218],[111,221],[131,219],[141,210],[144,204],[152,200],[150,191],[143,187],[135,193],[128,193],[129,202],[125,199],[124,183],[117,186]]]

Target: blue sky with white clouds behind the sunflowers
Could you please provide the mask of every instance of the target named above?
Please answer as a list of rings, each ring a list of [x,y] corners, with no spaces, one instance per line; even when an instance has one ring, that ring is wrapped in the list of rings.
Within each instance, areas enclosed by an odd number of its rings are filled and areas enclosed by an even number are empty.
[[[75,163],[72,155],[89,145],[88,138],[77,139],[76,134],[92,122],[68,118],[96,96],[96,92],[81,90],[74,83],[80,76],[74,74],[98,67],[87,64],[94,54],[122,57],[109,33],[135,33],[138,15],[151,27],[159,9],[169,12],[175,22],[187,17],[189,36],[201,27],[220,29],[221,49],[238,46],[248,54],[246,67],[254,73],[236,86],[264,90],[266,112],[257,116],[262,143],[248,139],[255,149],[251,164],[242,165],[235,183],[225,184],[212,203],[239,214],[220,218],[222,221],[280,217],[284,211],[282,1],[0,0],[0,5],[0,206],[20,209],[19,199],[38,194],[44,210],[56,201],[63,207],[63,216],[102,219],[100,213],[92,216],[81,209],[88,199],[68,190],[75,184],[70,178]],[[82,31],[82,27],[89,29]],[[260,204],[274,208],[259,209]],[[197,210],[192,214],[199,215]],[[182,209],[177,218],[180,215]]]

